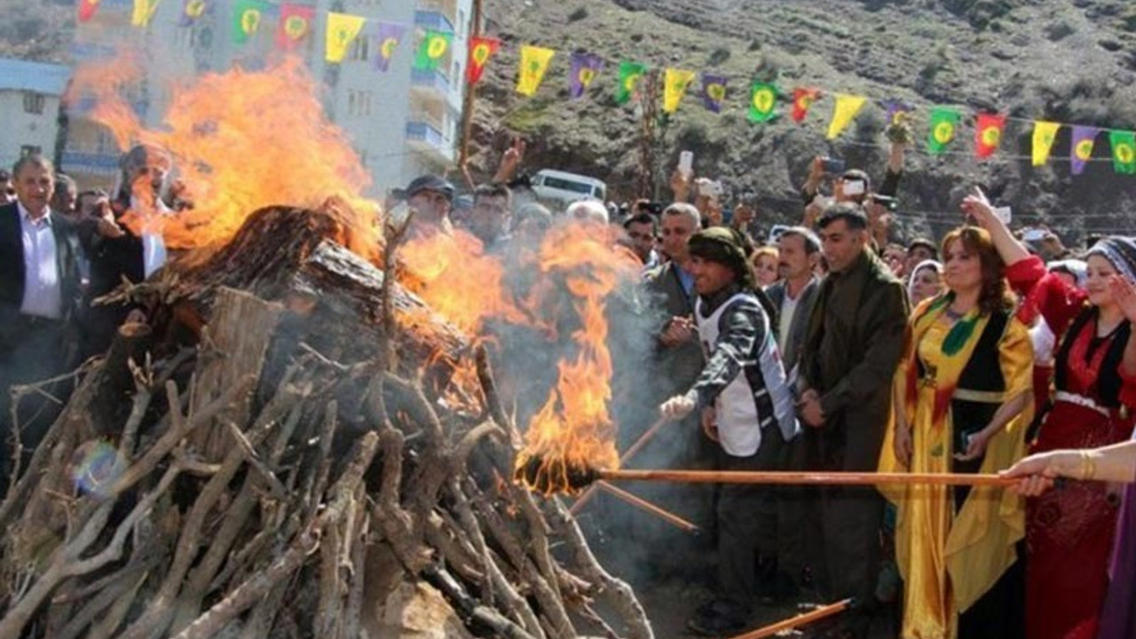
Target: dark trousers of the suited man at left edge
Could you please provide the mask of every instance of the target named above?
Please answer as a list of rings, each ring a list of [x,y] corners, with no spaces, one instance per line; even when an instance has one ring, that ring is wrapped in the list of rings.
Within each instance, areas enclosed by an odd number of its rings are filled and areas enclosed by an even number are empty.
[[[9,318],[0,327],[0,493],[8,489],[18,434],[20,466],[26,470],[35,447],[62,410],[70,385],[51,384],[41,393],[28,393],[16,405],[12,422],[11,387],[51,379],[67,371],[73,364],[76,341],[64,322],[41,320],[26,315]],[[57,401],[58,400],[58,401]],[[19,432],[15,432],[16,426]]]

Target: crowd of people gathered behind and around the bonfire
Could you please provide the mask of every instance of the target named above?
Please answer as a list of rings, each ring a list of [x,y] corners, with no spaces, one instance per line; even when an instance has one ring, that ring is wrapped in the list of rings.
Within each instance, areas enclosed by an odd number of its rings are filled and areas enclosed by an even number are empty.
[[[692,630],[744,630],[782,579],[855,600],[817,637],[867,637],[888,614],[904,639],[1136,637],[1136,492],[1122,484],[1136,480],[1136,445],[1122,443],[1136,420],[1136,240],[1025,241],[976,189],[958,229],[899,244],[888,218],[902,143],[879,189],[817,158],[801,224],[769,232],[744,205],[727,222],[707,182],[683,173],[670,202],[554,211],[507,185],[523,151],[469,197],[426,175],[395,198],[414,232],[462,229],[487,252],[561,218],[618,224],[616,250],[642,262],[665,320],[660,410],[710,465],[1021,478],[1014,489],[722,486],[716,594]],[[172,194],[170,169],[143,146],[110,193],[80,192],[34,155],[0,175],[2,481],[58,412],[12,409],[8,388],[64,373],[144,320],[94,300],[165,262],[160,231],[127,216],[192,206]],[[1053,489],[1059,476],[1079,481]]]

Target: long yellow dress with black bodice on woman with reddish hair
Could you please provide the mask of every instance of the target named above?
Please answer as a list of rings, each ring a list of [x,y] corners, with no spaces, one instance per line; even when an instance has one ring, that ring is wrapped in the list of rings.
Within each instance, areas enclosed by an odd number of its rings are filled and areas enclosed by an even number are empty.
[[[1031,401],[991,438],[984,457],[954,458],[1004,401],[1030,390],[1034,354],[1026,326],[1010,312],[983,315],[976,309],[952,323],[945,314],[952,294],[926,300],[912,314],[907,351],[895,375],[902,393],[897,397],[904,398],[895,409],[904,410],[912,432],[911,466],[896,460],[894,429],[888,429],[880,472],[994,473],[1025,454]],[[880,491],[897,511],[902,637],[954,639],[960,614],[1017,561],[1014,543],[1025,534],[1022,500],[1012,491],[989,487],[888,486]],[[1016,634],[989,631],[992,637]]]

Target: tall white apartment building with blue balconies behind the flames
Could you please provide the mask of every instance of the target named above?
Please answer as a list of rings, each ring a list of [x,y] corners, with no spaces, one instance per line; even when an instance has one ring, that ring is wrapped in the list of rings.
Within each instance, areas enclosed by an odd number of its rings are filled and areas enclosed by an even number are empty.
[[[295,53],[324,84],[325,113],[342,127],[371,175],[370,196],[404,185],[424,173],[453,167],[461,132],[466,90],[471,0],[310,0],[292,2],[315,9],[307,42]],[[169,102],[169,86],[195,74],[224,72],[234,64],[262,68],[275,52],[279,5],[272,3],[258,33],[243,44],[232,39],[233,0],[217,0],[212,9],[182,26],[182,0],[158,5],[147,28],[131,26],[132,0],[102,0],[99,10],[76,30],[74,64],[108,59],[118,47],[141,48],[147,78],[128,90],[127,99],[151,127],[161,123]],[[328,11],[362,16],[367,26],[339,64],[324,59]],[[385,73],[375,67],[377,23],[407,27]],[[412,68],[415,50],[426,30],[454,34],[436,72]],[[102,126],[85,118],[91,105],[69,109],[62,168],[84,185],[106,185],[114,179],[119,150]]]

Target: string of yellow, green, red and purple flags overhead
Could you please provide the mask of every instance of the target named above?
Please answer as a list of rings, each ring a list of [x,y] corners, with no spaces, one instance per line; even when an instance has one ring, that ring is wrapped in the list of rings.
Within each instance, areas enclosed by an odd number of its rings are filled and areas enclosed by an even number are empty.
[[[131,24],[144,28],[153,18],[161,0],[133,0]],[[189,27],[216,9],[217,0],[181,0],[182,11],[178,25]],[[78,0],[78,20],[87,22],[95,15],[100,0]],[[290,51],[311,38],[315,9],[306,5],[282,2],[278,6],[266,0],[235,0],[233,7],[232,40],[234,44],[247,43],[261,27],[267,13],[278,8],[276,26],[276,47]],[[386,72],[391,58],[402,44],[407,32],[406,25],[369,20],[361,16],[341,13],[327,14],[325,33],[325,59],[329,63],[341,63],[346,57],[351,44],[362,34],[373,36],[378,43],[375,68]],[[370,27],[368,30],[368,26]],[[453,45],[453,33],[438,30],[421,30],[415,50],[414,68],[435,70],[450,52]],[[476,36],[469,39],[469,63],[466,68],[466,81],[477,84],[490,59],[500,50],[501,42],[494,38]],[[517,72],[518,93],[535,96],[548,73],[553,49],[524,44],[519,51],[520,61]],[[570,99],[583,98],[595,78],[603,73],[604,61],[595,53],[573,52],[569,57],[568,94]],[[637,91],[640,81],[649,72],[648,65],[624,60],[617,67],[617,84],[615,101],[626,105],[640,99]],[[678,110],[683,98],[701,76],[699,98],[704,108],[712,113],[721,113],[727,98],[728,78],[711,73],[696,73],[690,69],[666,68],[663,72],[662,110],[674,114]],[[797,86],[791,92],[784,92],[774,82],[753,81],[749,86],[749,105],[746,118],[753,124],[767,124],[782,117],[778,106],[791,101],[790,116],[797,124],[804,123],[810,108],[822,98],[825,91],[816,86]],[[833,114],[828,124],[827,138],[838,138],[868,103],[864,96],[833,93]],[[916,107],[902,100],[887,100],[880,106],[887,111],[889,124],[910,122]],[[975,156],[986,159],[994,156],[1002,142],[1006,122],[1004,114],[979,113],[975,115]],[[935,106],[928,116],[927,152],[933,156],[943,155],[955,143],[958,131],[963,121],[961,109],[949,106]],[[1078,124],[1064,124],[1047,121],[1022,121],[1031,123],[1031,163],[1034,166],[1045,165],[1053,150],[1058,132],[1063,126],[1071,128],[1069,163],[1070,172],[1079,175],[1093,157],[1097,138],[1108,133],[1111,146],[1112,166],[1117,173],[1136,175],[1136,132],[1109,130]]]

